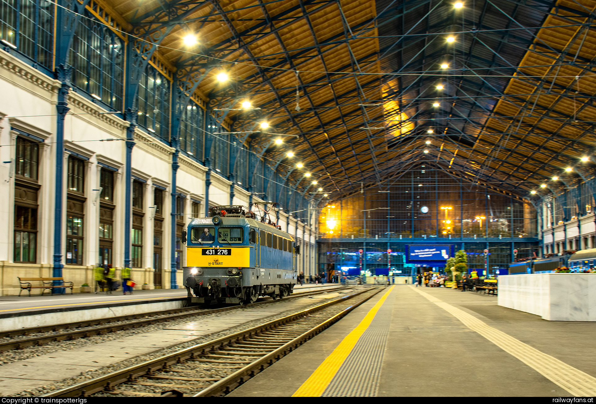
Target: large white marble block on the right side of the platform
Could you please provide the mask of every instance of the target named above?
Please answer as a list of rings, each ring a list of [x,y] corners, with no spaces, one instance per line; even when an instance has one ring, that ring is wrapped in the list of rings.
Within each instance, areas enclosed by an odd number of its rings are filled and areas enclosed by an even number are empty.
[[[551,321],[596,321],[596,274],[499,276],[499,306]]]

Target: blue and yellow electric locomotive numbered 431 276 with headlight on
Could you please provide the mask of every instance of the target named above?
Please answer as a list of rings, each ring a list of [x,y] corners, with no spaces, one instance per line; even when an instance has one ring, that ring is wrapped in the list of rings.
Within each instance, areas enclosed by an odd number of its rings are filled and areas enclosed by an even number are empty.
[[[292,293],[297,280],[294,238],[265,215],[243,206],[216,206],[186,232],[184,286],[193,303],[253,303]],[[194,295],[194,296],[193,296]]]

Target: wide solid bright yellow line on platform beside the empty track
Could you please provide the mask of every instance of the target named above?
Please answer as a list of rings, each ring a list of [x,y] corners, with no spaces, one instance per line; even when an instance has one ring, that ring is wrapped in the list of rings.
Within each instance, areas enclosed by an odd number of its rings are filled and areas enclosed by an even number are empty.
[[[327,388],[333,377],[336,375],[347,356],[350,355],[352,349],[358,342],[359,338],[367,330],[368,326],[373,322],[374,316],[378,309],[383,306],[389,293],[395,288],[392,286],[389,290],[378,300],[377,304],[364,316],[364,319],[354,328],[349,334],[343,338],[342,342],[327,356],[325,361],[319,365],[312,375],[299,387],[292,397],[320,397],[323,391]]]

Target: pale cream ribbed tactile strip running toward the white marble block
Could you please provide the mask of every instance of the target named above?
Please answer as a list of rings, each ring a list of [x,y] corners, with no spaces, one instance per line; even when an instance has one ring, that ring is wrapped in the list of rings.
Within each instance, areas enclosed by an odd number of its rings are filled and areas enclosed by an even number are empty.
[[[591,375],[511,337],[511,335],[505,334],[505,332],[490,327],[482,320],[464,312],[464,310],[445,303],[415,287],[411,288],[426,297],[430,302],[451,313],[451,315],[470,328],[470,330],[476,331],[505,352],[526,363],[526,365],[552,381],[552,383],[569,391],[570,394],[578,397],[596,396],[596,378]]]

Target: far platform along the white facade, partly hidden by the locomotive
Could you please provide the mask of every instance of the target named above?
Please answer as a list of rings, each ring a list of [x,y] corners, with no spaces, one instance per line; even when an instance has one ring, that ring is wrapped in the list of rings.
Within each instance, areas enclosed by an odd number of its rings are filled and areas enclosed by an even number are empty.
[[[294,293],[318,289],[338,288],[339,284],[296,285]],[[132,295],[122,291],[54,294],[45,296],[0,297],[0,329],[35,327],[85,319],[132,315],[157,310],[178,309],[187,303],[187,290],[135,290]]]

